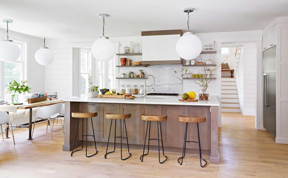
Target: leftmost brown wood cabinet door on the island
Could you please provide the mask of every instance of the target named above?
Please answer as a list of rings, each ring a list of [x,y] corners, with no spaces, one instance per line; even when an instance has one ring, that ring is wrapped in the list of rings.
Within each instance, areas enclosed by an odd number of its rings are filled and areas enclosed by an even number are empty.
[[[93,128],[94,128],[94,133],[95,133],[95,140],[99,141],[99,124],[100,124],[100,116],[99,116],[99,108],[100,104],[99,103],[80,103],[80,112],[82,113],[98,113],[96,117],[92,117],[92,122],[93,122]],[[88,128],[87,128],[87,134],[88,135],[93,135],[93,130],[92,130],[92,125],[91,125],[91,119],[88,118],[88,120],[85,118],[84,119],[84,135],[86,135],[86,121],[88,123]],[[82,120],[79,119],[79,140],[82,140]],[[86,140],[86,137],[84,136],[84,139]],[[94,141],[93,137],[87,137],[88,141]]]

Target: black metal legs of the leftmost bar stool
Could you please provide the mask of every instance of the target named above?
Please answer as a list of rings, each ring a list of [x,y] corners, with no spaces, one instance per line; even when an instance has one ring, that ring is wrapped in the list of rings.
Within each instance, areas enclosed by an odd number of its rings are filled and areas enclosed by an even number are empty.
[[[72,154],[73,154],[74,152],[80,151],[80,150],[83,149],[83,138],[84,138],[84,136],[86,136],[86,157],[89,158],[89,157],[91,157],[91,156],[96,155],[96,154],[98,153],[98,151],[97,151],[97,148],[96,148],[96,140],[95,140],[95,133],[94,133],[94,127],[93,127],[92,118],[91,118],[91,125],[92,125],[93,135],[88,135],[88,134],[87,134],[88,118],[86,118],[86,135],[84,135],[84,119],[85,119],[85,118],[82,118],[82,148],[73,151],[73,149],[74,149],[74,143],[75,143],[75,139],[76,139],[77,128],[78,128],[78,123],[79,123],[79,118],[77,118],[77,124],[76,124],[76,129],[75,129],[75,135],[74,135],[74,141],[73,141],[71,156],[72,156]],[[94,154],[92,154],[92,155],[87,155],[87,142],[88,142],[87,136],[91,136],[91,137],[94,138],[96,153],[94,153]]]

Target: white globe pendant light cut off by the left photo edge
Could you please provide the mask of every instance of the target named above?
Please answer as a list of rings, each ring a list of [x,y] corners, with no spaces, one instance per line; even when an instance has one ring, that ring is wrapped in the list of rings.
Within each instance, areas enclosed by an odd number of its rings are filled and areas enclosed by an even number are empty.
[[[4,62],[16,61],[20,56],[20,48],[13,40],[8,39],[8,23],[12,23],[13,20],[3,19],[3,22],[7,23],[7,39],[4,39],[0,43],[0,60]]]

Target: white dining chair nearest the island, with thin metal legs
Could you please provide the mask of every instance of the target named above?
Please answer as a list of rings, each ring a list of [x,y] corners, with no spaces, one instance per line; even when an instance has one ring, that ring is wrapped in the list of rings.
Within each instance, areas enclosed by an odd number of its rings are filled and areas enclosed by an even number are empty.
[[[31,137],[33,137],[33,132],[34,132],[36,120],[37,119],[43,119],[43,120],[49,121],[50,131],[51,131],[51,139],[53,139],[51,120],[53,120],[59,116],[59,113],[61,112],[62,105],[63,105],[62,103],[58,103],[58,104],[53,104],[50,106],[41,107],[40,109],[37,110]],[[47,125],[48,125],[48,122],[47,122]],[[61,121],[61,125],[62,125],[62,121]],[[63,125],[62,125],[62,129],[63,129],[63,133],[64,133]],[[46,130],[46,133],[47,133],[47,130]]]

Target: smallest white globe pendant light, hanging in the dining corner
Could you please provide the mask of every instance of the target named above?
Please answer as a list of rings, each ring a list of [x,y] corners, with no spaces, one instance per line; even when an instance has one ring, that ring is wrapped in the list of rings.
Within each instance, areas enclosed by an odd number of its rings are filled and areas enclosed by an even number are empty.
[[[49,65],[53,61],[53,53],[48,47],[45,47],[45,36],[44,36],[44,47],[40,47],[35,53],[35,60],[40,65]]]

